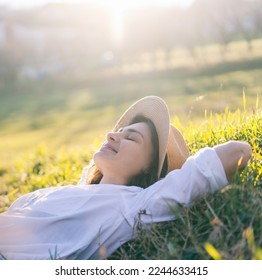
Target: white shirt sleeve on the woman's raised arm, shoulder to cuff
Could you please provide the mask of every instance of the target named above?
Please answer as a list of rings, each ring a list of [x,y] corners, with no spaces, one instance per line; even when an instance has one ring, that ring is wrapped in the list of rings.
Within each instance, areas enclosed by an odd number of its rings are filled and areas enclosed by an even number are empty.
[[[213,148],[203,148],[187,159],[181,169],[141,191],[140,215],[144,223],[174,219],[177,204],[189,206],[197,197],[219,191],[228,184],[222,163]]]

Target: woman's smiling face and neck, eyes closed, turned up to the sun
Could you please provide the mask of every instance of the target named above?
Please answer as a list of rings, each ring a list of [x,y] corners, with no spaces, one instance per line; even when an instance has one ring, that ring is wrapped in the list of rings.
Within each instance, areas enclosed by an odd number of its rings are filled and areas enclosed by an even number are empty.
[[[144,122],[107,134],[107,142],[94,154],[94,162],[103,175],[100,183],[127,184],[146,172],[153,153],[151,133]]]

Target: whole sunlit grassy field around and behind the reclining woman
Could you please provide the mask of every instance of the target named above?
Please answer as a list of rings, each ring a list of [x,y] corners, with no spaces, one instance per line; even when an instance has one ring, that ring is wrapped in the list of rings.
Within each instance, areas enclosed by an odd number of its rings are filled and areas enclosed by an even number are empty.
[[[138,98],[158,95],[191,154],[235,139],[248,141],[253,157],[223,192],[174,209],[176,221],[142,231],[111,258],[262,259],[262,56],[240,60],[233,53],[198,68],[95,81],[74,75],[1,81],[0,212],[24,193],[77,183],[123,111]]]

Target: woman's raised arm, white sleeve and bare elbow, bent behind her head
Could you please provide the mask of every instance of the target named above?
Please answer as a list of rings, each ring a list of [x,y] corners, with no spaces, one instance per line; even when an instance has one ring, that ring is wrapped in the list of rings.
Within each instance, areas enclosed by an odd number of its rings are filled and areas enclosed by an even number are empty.
[[[142,217],[145,223],[172,220],[171,209],[178,203],[190,206],[197,197],[225,187],[247,165],[251,152],[248,143],[238,141],[203,148],[181,169],[141,191],[134,205],[146,210],[148,215]]]

